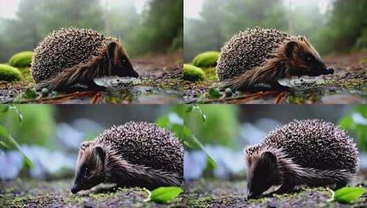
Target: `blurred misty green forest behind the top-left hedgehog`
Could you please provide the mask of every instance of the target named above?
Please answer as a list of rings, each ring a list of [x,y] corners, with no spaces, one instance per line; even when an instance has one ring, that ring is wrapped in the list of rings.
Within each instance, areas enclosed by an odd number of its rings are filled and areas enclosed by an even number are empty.
[[[6,10],[7,2],[1,3]],[[182,0],[20,0],[14,18],[0,16],[0,62],[71,26],[120,38],[130,56],[180,49],[182,7]]]

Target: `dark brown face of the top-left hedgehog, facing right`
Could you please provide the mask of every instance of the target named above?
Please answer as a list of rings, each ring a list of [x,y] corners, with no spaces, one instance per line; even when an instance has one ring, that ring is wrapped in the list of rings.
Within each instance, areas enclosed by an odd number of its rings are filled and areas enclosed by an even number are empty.
[[[119,77],[139,77],[139,74],[134,70],[130,59],[121,45],[117,42],[111,42],[108,46],[108,58],[113,68],[113,75]]]

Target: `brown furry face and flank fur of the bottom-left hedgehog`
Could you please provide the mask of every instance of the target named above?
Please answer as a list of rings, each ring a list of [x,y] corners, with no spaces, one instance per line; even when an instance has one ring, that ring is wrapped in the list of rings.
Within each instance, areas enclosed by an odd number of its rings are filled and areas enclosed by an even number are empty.
[[[89,167],[86,180],[78,177],[84,167]],[[82,173],[83,174],[83,173]],[[99,183],[116,183],[122,187],[180,186],[180,177],[174,173],[154,168],[130,164],[109,146],[83,142],[80,146],[75,167],[75,185],[72,192],[87,190]]]

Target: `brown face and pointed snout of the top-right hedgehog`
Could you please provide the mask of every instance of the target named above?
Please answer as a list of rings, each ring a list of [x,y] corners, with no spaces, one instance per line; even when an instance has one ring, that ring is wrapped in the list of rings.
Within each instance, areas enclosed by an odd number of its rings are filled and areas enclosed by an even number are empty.
[[[333,74],[333,68],[328,68],[316,49],[303,37],[287,42],[285,54],[288,59],[287,74],[289,76]]]

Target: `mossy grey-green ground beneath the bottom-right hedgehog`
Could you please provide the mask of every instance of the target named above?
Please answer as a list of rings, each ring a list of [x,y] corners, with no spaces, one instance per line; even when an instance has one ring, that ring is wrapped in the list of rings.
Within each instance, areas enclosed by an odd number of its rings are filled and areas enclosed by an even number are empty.
[[[246,199],[246,181],[193,181],[185,185],[188,207],[367,207],[367,198],[353,205],[327,202],[331,191],[323,187],[300,188],[289,194]]]

